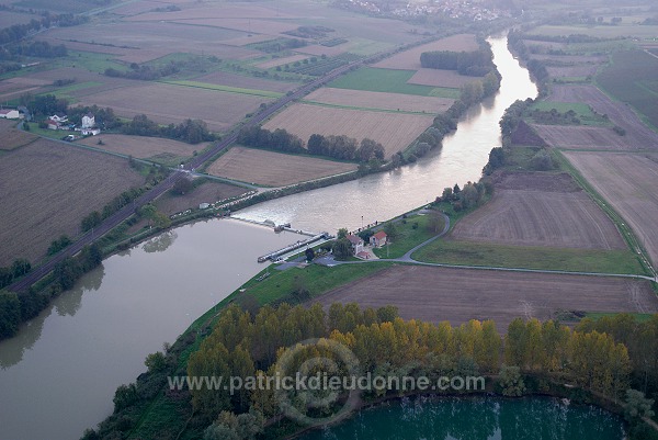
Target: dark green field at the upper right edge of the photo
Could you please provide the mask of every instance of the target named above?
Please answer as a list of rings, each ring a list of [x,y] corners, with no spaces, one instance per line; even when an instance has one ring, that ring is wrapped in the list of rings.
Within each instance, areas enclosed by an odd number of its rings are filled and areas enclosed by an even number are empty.
[[[611,65],[597,76],[598,86],[608,94],[631,104],[654,127],[658,127],[658,58],[643,50],[623,50],[612,55]]]

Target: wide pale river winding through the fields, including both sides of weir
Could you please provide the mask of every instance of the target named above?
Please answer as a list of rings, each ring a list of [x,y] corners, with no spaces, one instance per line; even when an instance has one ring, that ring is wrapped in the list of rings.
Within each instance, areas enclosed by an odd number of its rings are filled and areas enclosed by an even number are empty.
[[[500,145],[498,121],[536,88],[489,40],[502,74],[496,97],[472,109],[456,134],[417,163],[279,199],[239,213],[315,232],[355,228],[432,201],[444,187],[476,181]],[[19,335],[0,342],[0,439],[75,439],[112,411],[116,387],[144,359],[263,268],[258,256],[299,239],[237,221],[177,228],[106,259]]]

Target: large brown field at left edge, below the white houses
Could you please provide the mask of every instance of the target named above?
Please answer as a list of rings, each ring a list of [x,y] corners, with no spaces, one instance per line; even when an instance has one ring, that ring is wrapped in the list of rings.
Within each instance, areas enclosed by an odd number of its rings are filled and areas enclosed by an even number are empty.
[[[36,261],[59,235],[78,235],[87,214],[144,182],[126,159],[45,139],[2,156],[0,174],[0,266]]]

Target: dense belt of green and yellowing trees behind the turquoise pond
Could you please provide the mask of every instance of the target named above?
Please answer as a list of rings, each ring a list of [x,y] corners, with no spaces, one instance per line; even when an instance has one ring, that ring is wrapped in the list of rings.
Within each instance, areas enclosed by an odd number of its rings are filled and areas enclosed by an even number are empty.
[[[320,341],[295,350],[293,358],[282,350],[308,338]],[[649,400],[642,392],[653,396],[658,391],[658,315],[646,323],[637,323],[629,315],[585,319],[575,329],[553,320],[518,318],[501,337],[491,320],[470,320],[457,327],[447,321],[404,320],[392,306],[361,309],[356,304],[333,304],[325,312],[317,304],[282,304],[276,308],[264,306],[251,315],[234,304],[222,312],[212,334],[190,356],[186,373],[266,377],[284,374],[288,368],[295,371],[319,356],[339,365],[338,371],[328,372],[329,376],[353,373],[354,365],[344,364],[333,342],[354,353],[360,374],[370,372],[373,376],[427,376],[436,381],[441,376],[494,375],[498,377],[494,390],[507,396],[555,392],[558,384],[568,383],[574,385],[570,398],[588,402],[592,396],[606,396],[620,404],[631,402],[626,392],[634,387],[640,392],[632,393],[633,398],[642,405],[626,406],[632,414],[627,419],[635,417],[632,429],[644,426],[640,417],[650,414],[646,407]],[[283,356],[286,361],[293,359],[284,370],[279,362]],[[173,363],[175,359],[167,352],[149,354],[146,361],[156,374],[163,374]],[[309,375],[325,371],[317,364],[311,370]],[[115,409],[138,405],[146,392],[137,384],[123,385],[115,396]],[[284,398],[313,417],[337,409],[329,405],[307,411],[304,396],[285,393]],[[373,388],[363,392],[362,397],[367,400],[399,394]],[[200,390],[192,391],[189,398],[195,410],[194,425],[207,426],[205,439],[251,439],[262,432],[263,420],[280,414],[277,402],[282,395],[274,390],[241,390],[232,395],[228,391]]]

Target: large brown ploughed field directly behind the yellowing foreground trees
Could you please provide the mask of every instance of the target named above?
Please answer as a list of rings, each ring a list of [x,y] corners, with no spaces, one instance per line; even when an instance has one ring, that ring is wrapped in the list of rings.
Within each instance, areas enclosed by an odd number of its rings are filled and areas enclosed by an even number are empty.
[[[397,266],[321,295],[317,302],[393,304],[406,319],[460,325],[494,319],[499,332],[515,317],[555,318],[564,311],[651,313],[646,281],[476,269]]]

